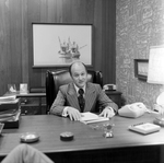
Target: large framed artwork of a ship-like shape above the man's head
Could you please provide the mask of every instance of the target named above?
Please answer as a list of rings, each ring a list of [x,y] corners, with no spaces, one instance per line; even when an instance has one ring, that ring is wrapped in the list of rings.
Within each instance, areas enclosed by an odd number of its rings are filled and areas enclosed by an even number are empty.
[[[92,67],[92,24],[33,23],[33,67]]]

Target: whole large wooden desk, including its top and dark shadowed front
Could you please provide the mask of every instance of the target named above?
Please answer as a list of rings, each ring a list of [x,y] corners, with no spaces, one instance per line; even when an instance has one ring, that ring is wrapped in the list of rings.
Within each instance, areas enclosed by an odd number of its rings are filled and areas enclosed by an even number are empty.
[[[164,144],[164,128],[160,132],[142,136],[128,130],[128,126],[141,121],[152,121],[154,115],[145,115],[137,119],[116,116],[114,138],[104,138],[102,129],[92,129],[80,121],[54,115],[22,116],[19,129],[3,129],[0,137],[0,158],[5,156],[20,144],[23,132],[36,131],[40,140],[31,143],[46,153],[56,163],[77,162],[133,162],[157,163],[160,147]],[[74,133],[74,140],[61,141],[63,131]]]

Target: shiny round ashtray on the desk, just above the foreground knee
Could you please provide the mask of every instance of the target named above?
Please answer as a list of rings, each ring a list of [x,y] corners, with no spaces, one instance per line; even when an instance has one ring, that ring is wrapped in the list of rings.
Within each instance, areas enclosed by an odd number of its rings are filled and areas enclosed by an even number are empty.
[[[20,137],[22,142],[35,142],[39,140],[39,136],[35,132],[26,132]]]

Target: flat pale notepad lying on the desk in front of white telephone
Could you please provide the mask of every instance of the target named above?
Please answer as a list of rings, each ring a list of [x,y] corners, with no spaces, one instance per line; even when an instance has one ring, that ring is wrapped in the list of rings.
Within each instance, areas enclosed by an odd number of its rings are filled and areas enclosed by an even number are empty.
[[[148,135],[148,133],[152,133],[155,131],[160,131],[161,127],[152,123],[141,123],[141,124],[129,126],[129,129],[132,131],[143,133],[143,135]]]

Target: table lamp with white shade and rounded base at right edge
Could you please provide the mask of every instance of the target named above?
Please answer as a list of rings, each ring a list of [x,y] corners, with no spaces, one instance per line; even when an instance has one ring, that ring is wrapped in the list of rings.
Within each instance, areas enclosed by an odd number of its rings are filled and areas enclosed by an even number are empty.
[[[159,108],[161,117],[157,123],[164,125],[164,46],[150,48],[148,83],[162,84],[161,93],[156,98],[155,106]]]

